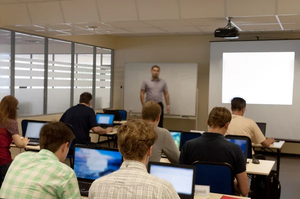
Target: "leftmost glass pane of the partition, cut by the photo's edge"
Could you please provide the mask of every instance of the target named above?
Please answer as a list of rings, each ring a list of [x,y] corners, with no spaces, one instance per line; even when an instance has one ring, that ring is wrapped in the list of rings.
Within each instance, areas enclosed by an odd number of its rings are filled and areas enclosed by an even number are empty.
[[[0,100],[10,94],[10,31],[0,30]]]

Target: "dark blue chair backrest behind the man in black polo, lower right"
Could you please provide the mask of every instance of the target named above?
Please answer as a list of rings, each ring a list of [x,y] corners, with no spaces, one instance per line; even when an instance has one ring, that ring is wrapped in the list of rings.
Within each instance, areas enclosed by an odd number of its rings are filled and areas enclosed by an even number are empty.
[[[195,161],[197,185],[209,185],[210,192],[234,195],[234,172],[228,163]]]

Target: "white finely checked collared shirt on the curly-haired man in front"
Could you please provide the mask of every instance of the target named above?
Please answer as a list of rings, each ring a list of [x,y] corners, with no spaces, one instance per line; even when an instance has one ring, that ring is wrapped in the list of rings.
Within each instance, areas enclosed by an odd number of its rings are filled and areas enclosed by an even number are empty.
[[[147,172],[138,161],[124,161],[119,170],[96,179],[88,198],[179,199],[172,184]]]

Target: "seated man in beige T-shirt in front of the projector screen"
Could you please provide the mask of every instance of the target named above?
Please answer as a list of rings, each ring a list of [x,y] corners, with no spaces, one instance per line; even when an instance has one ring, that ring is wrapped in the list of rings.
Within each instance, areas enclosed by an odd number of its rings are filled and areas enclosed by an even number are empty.
[[[227,134],[232,135],[245,135],[250,137],[254,144],[260,143],[264,147],[268,147],[274,142],[274,138],[265,138],[260,128],[255,121],[244,117],[243,114],[246,110],[246,101],[240,97],[234,97],[231,100],[232,119],[228,126]]]

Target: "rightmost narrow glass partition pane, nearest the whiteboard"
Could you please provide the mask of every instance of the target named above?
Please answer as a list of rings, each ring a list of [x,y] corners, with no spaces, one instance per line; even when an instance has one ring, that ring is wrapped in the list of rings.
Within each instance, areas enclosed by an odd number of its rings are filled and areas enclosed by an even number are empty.
[[[95,109],[110,107],[111,54],[110,50],[96,48]],[[109,54],[108,54],[109,53]],[[102,60],[101,60],[102,57]],[[108,60],[109,59],[109,60]]]

